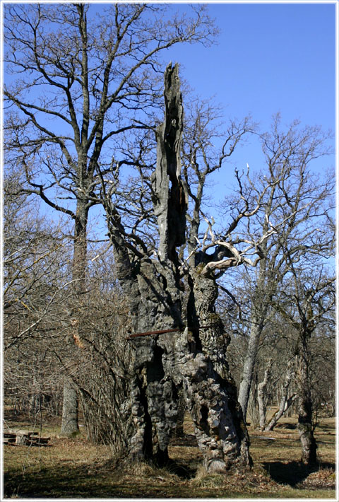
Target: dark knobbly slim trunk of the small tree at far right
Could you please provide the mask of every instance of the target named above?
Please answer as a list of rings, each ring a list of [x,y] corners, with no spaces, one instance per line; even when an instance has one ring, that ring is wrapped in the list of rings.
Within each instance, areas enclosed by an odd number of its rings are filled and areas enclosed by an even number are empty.
[[[308,334],[302,336],[302,343],[297,354],[298,387],[298,423],[297,429],[302,445],[302,462],[305,465],[316,464],[316,440],[312,428],[312,399],[309,383],[309,360],[307,354]]]

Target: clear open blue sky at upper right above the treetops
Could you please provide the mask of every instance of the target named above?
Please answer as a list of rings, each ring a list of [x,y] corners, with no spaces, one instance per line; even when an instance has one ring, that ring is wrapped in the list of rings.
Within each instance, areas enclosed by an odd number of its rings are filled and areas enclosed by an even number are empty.
[[[215,96],[226,118],[251,113],[261,130],[280,112],[284,124],[299,119],[335,131],[334,4],[225,2],[208,8],[220,29],[218,44],[167,51],[167,62],[182,65],[182,76],[198,95]],[[261,148],[250,141],[231,161],[237,168],[246,168],[247,162],[251,170],[261,168]],[[334,163],[334,156],[322,158],[314,169]],[[217,173],[213,195],[222,198],[229,184],[226,170]]]

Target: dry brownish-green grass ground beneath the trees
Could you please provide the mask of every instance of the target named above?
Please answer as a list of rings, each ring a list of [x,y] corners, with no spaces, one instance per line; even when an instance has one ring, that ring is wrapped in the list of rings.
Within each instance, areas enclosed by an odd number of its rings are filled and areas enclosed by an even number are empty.
[[[51,437],[47,447],[4,445],[4,496],[335,499],[335,419],[322,419],[316,428],[319,465],[314,472],[299,464],[295,423],[295,418],[283,419],[269,433],[249,428],[254,467],[227,475],[204,472],[189,419],[185,436],[172,440],[172,462],[166,469],[115,465],[107,446],[88,443],[84,433],[59,438],[59,424],[44,424],[42,435]],[[32,424],[8,420],[6,426],[22,429]]]

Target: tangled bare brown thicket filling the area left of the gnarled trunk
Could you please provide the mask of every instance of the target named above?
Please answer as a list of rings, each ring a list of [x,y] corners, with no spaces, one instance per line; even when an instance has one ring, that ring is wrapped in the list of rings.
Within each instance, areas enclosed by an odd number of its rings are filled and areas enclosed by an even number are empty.
[[[127,311],[107,243],[91,244],[88,303],[76,305],[71,287],[71,243],[64,225],[40,216],[23,193],[20,173],[4,178],[4,398],[16,414],[41,425],[61,416],[62,388],[71,378],[83,403],[86,432],[115,452],[121,406],[133,354],[124,330]],[[66,229],[67,230],[67,229]],[[109,259],[111,258],[111,259]],[[83,336],[69,308],[83,308]],[[75,343],[74,343],[75,342]],[[126,375],[125,375],[126,373]],[[121,415],[128,428],[129,415]]]

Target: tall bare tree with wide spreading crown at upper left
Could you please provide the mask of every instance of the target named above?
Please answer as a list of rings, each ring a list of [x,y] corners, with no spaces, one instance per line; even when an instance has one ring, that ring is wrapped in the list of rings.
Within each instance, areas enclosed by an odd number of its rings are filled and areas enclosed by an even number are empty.
[[[215,35],[200,7],[192,8],[192,17],[150,4],[114,4],[91,14],[95,8],[4,9],[6,74],[15,75],[4,88],[6,155],[25,167],[28,192],[73,221],[72,284],[80,306],[86,303],[97,166],[116,165],[120,134],[144,129],[142,122],[158,107],[160,53],[176,43],[208,43]],[[81,338],[82,319],[73,316],[73,325]],[[78,424],[71,380],[64,397],[61,430],[72,434]]]

